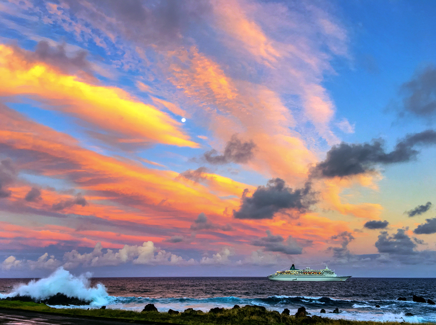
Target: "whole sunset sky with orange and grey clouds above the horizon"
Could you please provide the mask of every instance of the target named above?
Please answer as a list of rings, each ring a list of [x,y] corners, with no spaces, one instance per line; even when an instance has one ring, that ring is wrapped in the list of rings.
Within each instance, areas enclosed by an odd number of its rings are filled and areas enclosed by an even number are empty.
[[[0,0],[0,277],[435,277],[435,14]]]

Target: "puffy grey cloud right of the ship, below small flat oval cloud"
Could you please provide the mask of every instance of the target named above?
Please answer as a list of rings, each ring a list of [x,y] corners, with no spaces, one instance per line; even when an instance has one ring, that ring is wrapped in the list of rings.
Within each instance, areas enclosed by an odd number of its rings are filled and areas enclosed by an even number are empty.
[[[405,233],[405,229],[398,229],[392,236],[387,231],[381,231],[375,247],[379,253],[389,253],[394,255],[415,255],[416,243]]]

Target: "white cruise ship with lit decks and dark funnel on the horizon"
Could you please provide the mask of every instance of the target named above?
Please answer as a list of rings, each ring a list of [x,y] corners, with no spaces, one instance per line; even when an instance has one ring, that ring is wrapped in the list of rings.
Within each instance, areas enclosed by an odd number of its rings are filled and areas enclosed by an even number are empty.
[[[299,270],[295,265],[285,271],[277,271],[269,274],[268,279],[271,281],[345,281],[350,277],[338,277],[334,270],[330,270],[327,266],[324,270],[311,270],[306,267],[306,270]]]

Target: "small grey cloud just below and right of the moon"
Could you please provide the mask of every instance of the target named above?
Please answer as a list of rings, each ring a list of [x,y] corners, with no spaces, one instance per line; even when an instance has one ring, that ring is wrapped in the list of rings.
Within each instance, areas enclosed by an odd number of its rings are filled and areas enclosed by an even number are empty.
[[[238,139],[237,134],[233,134],[230,141],[227,142],[222,155],[218,155],[218,152],[212,149],[204,153],[204,158],[210,164],[228,164],[230,162],[243,164],[253,157],[255,147],[256,145],[252,140],[242,142]]]

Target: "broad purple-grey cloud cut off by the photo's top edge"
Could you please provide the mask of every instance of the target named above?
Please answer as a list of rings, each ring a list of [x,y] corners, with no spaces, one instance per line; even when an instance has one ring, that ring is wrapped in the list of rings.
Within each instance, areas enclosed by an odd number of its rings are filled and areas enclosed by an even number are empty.
[[[160,49],[174,49],[174,44],[182,41],[181,35],[193,24],[201,24],[211,11],[211,4],[204,0],[90,0],[95,11],[79,1],[66,2],[72,14],[107,34],[121,33],[129,40]]]

